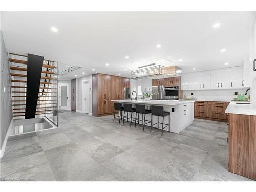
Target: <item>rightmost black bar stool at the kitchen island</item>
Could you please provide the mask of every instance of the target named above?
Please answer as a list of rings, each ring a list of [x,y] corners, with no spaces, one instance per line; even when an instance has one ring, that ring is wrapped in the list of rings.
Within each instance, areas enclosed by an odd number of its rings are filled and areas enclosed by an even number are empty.
[[[155,125],[155,124],[152,124],[152,116],[157,116],[157,129],[159,129],[159,116],[160,117],[163,117],[163,120],[164,120],[164,117],[165,116],[169,116],[169,124],[165,124],[165,123],[160,123],[162,124],[162,135],[163,135],[163,129],[167,126],[169,126],[169,131],[170,131],[170,112],[167,112],[167,111],[163,111],[163,106],[154,106],[152,105],[151,106],[151,127],[150,127],[150,132],[151,132],[151,129],[152,127]],[[167,125],[165,127],[163,127],[163,125]],[[153,127],[153,128],[156,128],[156,127]]]

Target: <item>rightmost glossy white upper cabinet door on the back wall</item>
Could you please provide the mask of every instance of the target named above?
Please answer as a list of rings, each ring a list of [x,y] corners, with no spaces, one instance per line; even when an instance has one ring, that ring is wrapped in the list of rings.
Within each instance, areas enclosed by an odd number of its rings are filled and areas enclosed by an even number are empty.
[[[230,88],[243,88],[243,66],[230,68]]]

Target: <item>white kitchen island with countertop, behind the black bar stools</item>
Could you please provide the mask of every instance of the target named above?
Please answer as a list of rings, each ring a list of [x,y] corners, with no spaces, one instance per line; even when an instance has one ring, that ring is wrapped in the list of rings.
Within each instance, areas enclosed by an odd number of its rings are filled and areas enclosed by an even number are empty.
[[[174,133],[179,133],[187,126],[192,124],[194,120],[194,102],[193,100],[111,100],[112,102],[119,103],[131,103],[133,108],[136,104],[144,104],[146,109],[150,109],[151,105],[163,106],[164,111],[170,112],[170,131]],[[126,115],[126,114],[125,114]],[[130,117],[130,113],[128,114]],[[132,115],[135,117],[135,113]],[[140,115],[140,120],[142,116]],[[151,114],[146,115],[146,120],[151,120]],[[153,116],[153,124],[157,122],[157,116]],[[159,122],[161,122],[161,117],[159,117]],[[168,123],[168,116],[164,118],[164,123]],[[149,124],[148,124],[149,125]],[[156,125],[155,125],[156,126]],[[159,124],[161,128],[161,124]],[[168,127],[164,130],[168,131]]]

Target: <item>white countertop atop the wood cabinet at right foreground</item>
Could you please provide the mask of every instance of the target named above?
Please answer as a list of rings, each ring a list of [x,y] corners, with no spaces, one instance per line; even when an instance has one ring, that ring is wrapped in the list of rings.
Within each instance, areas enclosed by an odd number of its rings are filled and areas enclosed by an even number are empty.
[[[252,104],[236,104],[243,101],[231,101],[227,106],[226,113],[241,114],[241,115],[256,115],[256,108],[252,108]]]

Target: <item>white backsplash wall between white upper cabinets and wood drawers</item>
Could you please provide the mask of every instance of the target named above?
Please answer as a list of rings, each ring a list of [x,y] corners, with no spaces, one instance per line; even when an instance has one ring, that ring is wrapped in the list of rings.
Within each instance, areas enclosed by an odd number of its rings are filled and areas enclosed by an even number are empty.
[[[234,97],[237,98],[237,95],[234,95],[234,92],[245,93],[247,88],[243,89],[225,89],[225,90],[190,90],[183,91],[183,98],[186,95],[187,98],[194,97],[197,100],[219,100],[219,101],[231,101]],[[191,95],[193,93],[193,95]],[[250,94],[250,92],[248,92]]]

